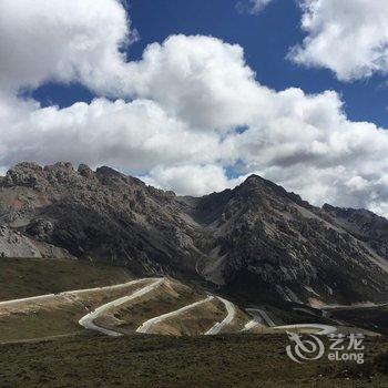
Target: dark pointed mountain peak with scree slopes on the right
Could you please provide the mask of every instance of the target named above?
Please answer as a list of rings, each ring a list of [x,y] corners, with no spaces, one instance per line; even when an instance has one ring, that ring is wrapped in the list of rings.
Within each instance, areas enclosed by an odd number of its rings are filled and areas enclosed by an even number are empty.
[[[221,272],[229,288],[316,303],[387,295],[387,273],[364,242],[272,182],[251,176],[197,204],[194,216],[216,231],[203,273],[219,280]]]

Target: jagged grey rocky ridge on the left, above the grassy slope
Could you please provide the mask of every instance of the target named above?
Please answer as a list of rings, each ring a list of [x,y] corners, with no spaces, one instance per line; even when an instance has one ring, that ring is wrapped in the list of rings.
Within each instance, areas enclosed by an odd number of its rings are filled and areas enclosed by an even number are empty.
[[[0,216],[74,256],[136,262],[145,270],[173,272],[181,262],[184,272],[195,251],[173,193],[109,167],[17,165],[1,183]]]

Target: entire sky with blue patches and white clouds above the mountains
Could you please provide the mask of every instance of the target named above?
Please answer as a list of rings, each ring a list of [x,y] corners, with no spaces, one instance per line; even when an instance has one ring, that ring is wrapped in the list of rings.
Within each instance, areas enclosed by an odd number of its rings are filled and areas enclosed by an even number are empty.
[[[386,0],[2,0],[0,169],[252,173],[388,215]]]

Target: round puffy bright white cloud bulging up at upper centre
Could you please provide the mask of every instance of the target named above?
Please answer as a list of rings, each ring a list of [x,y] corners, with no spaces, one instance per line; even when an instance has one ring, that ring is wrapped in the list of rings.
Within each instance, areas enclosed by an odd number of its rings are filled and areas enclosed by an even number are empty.
[[[132,93],[202,130],[246,123],[257,110],[254,72],[243,49],[215,38],[173,35],[153,43],[141,61],[129,63],[124,78]]]

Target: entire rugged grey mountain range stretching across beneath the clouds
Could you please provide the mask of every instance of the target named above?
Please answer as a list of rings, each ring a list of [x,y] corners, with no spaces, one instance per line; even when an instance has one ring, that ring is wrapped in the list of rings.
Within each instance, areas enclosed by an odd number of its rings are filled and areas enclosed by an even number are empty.
[[[234,190],[191,197],[106,166],[21,163],[0,180],[0,223],[7,236],[43,246],[42,256],[207,282],[252,302],[347,304],[388,296],[386,218],[314,207],[256,175]],[[4,239],[0,234],[0,251]]]

